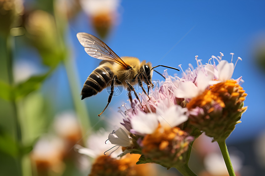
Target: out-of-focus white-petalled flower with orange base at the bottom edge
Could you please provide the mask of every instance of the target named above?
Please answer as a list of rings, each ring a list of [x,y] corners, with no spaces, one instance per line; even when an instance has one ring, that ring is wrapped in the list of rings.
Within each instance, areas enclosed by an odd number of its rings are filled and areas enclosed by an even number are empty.
[[[110,138],[106,141],[106,137]],[[129,175],[129,176],[146,176],[154,172],[153,166],[145,164],[142,166],[136,165],[139,154],[124,154],[122,157],[118,155],[122,152],[121,147],[117,147],[115,151],[110,152],[109,149],[116,147],[116,145],[110,143],[118,143],[123,146],[131,146],[132,138],[129,138],[126,132],[119,128],[117,131],[113,131],[108,134],[103,128],[100,131],[92,133],[89,136],[87,146],[88,148],[77,146],[76,149],[81,154],[86,154],[92,158],[95,158],[90,176],[105,176],[105,175]],[[106,152],[107,151],[107,152]]]

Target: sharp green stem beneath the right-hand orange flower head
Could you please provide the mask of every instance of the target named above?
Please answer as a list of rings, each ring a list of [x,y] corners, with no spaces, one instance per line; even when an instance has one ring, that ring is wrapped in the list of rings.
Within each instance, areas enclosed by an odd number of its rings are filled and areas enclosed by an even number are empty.
[[[217,142],[222,152],[223,158],[225,160],[226,168],[228,170],[229,176],[235,176],[234,169],[233,169],[233,166],[232,166],[232,163],[229,157],[229,153],[226,147],[226,141],[224,140],[224,141],[217,141]]]

